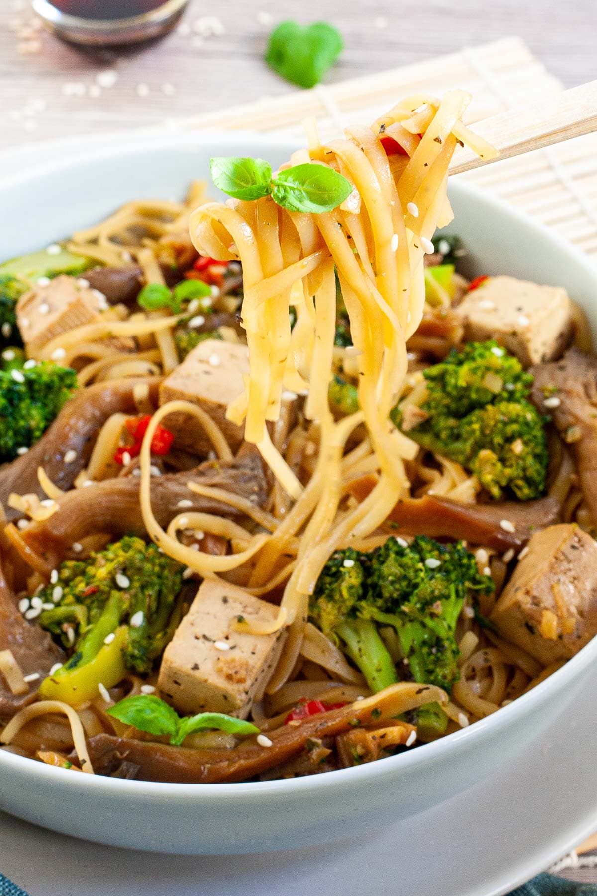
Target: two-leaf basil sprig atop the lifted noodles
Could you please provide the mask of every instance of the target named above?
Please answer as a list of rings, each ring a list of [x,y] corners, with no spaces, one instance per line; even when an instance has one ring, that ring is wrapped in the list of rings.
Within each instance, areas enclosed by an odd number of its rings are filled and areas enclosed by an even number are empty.
[[[294,165],[275,177],[263,159],[222,157],[211,159],[209,167],[214,184],[223,193],[235,199],[271,195],[288,211],[332,211],[353,192],[351,182],[327,165]]]

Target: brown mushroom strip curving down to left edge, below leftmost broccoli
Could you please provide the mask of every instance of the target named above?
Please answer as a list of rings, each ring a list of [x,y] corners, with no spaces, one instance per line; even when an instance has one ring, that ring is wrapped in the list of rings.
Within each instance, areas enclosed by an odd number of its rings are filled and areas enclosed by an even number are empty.
[[[38,443],[0,469],[0,503],[4,504],[6,518],[11,521],[21,516],[20,511],[7,506],[11,492],[46,497],[38,482],[38,467],[43,467],[58,488],[63,491],[72,488],[74,480],[87,466],[107,418],[118,411],[124,414],[139,412],[134,398],[135,387],[139,385],[149,388],[149,401],[156,405],[158,383],[157,377],[111,380],[75,392]],[[65,463],[64,456],[72,456],[70,452],[74,452],[74,459]]]

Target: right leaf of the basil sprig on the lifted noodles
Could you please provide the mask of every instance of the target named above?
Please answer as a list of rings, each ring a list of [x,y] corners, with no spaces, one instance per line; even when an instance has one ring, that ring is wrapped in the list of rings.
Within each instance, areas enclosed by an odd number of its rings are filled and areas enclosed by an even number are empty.
[[[353,185],[326,165],[295,165],[279,171],[272,198],[288,211],[332,211],[353,192]]]

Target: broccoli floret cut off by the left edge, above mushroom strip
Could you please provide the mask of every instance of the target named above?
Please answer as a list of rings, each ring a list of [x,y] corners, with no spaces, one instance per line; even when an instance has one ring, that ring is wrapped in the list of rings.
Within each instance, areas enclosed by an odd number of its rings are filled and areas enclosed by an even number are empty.
[[[76,387],[76,372],[51,361],[0,372],[0,462],[37,442]]]

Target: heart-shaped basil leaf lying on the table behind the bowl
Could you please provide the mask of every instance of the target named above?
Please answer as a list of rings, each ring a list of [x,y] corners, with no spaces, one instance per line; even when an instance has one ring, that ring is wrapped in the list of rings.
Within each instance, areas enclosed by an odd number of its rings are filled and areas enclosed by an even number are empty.
[[[315,87],[343,49],[342,35],[328,22],[313,22],[306,28],[280,22],[269,35],[265,61],[291,84]]]

